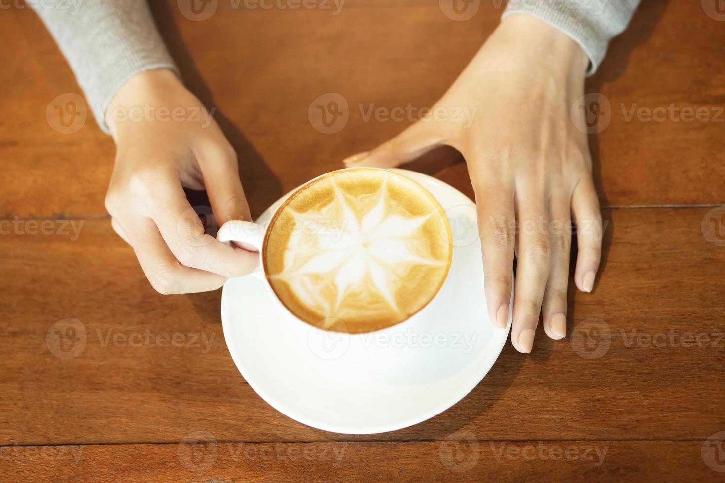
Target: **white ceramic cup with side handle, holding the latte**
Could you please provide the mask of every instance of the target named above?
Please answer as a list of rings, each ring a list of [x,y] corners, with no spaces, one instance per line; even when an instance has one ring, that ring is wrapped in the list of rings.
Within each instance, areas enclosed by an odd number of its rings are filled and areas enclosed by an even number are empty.
[[[347,171],[349,169],[359,168],[347,168],[339,171]],[[379,168],[365,168],[365,169],[379,169]],[[320,175],[320,177],[326,175]],[[297,188],[293,192],[289,193],[289,196],[294,195],[297,191],[304,189],[307,185],[317,180],[319,177],[310,180],[304,185]],[[424,188],[423,188],[424,189]],[[276,211],[270,217],[271,220],[276,219],[276,215],[285,204],[282,202],[276,209]],[[448,220],[442,218],[442,223],[446,224],[447,230],[450,230]],[[231,242],[241,246],[249,251],[258,251],[260,253],[260,265],[255,272],[247,275],[247,277],[255,277],[267,287],[268,293],[270,293],[271,299],[274,301],[275,306],[279,309],[280,314],[286,319],[289,319],[289,329],[297,332],[299,337],[307,338],[307,343],[310,345],[310,349],[317,353],[318,356],[323,358],[338,358],[335,356],[335,350],[339,352],[340,348],[344,348],[344,354],[346,358],[368,358],[374,357],[378,352],[376,348],[371,347],[369,340],[370,337],[392,337],[393,335],[399,335],[400,332],[432,332],[436,329],[440,329],[441,318],[444,317],[444,311],[441,309],[447,305],[447,301],[442,295],[445,292],[447,286],[447,280],[451,277],[452,267],[454,266],[451,260],[450,269],[447,272],[446,279],[442,283],[438,292],[431,298],[426,306],[421,308],[420,311],[416,312],[412,316],[405,319],[403,322],[399,322],[383,329],[378,329],[372,332],[365,333],[350,333],[350,332],[339,332],[337,330],[325,330],[319,327],[312,326],[307,322],[299,319],[280,301],[277,294],[272,288],[270,281],[268,280],[267,274],[265,274],[265,264],[263,263],[265,257],[265,239],[268,237],[270,230],[273,229],[273,224],[262,225],[258,223],[245,222],[241,220],[231,220],[226,222],[220,227],[217,240],[231,245]],[[453,251],[455,257],[455,251]],[[436,312],[440,312],[436,316]],[[323,321],[324,322],[324,321]],[[318,325],[322,325],[320,322]],[[367,341],[367,342],[366,342]],[[334,345],[334,350],[328,350],[325,345]],[[328,357],[329,356],[329,357]]]

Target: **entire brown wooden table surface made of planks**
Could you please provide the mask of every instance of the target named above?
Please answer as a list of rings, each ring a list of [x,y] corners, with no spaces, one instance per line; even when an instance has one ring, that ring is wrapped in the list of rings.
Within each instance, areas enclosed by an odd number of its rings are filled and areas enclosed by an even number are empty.
[[[348,0],[339,15],[221,0],[192,21],[176,1],[153,3],[186,83],[218,108],[253,214],[405,127],[351,111],[339,133],[319,133],[313,99],[430,106],[501,12],[481,1],[453,21],[435,0]],[[703,5],[645,0],[588,80],[610,102],[590,143],[608,229],[595,292],[570,285],[569,337],[539,334],[530,356],[507,343],[460,403],[368,436],[268,406],[229,356],[220,291],[152,290],[104,210],[112,140],[90,114],[73,134],[46,122],[53,98],[80,90],[33,12],[3,9],[2,478],[722,479],[725,446],[706,440],[725,436],[725,218],[712,211],[725,203],[725,22]],[[628,117],[671,104],[711,119]],[[473,196],[460,159],[419,168]],[[62,332],[75,334],[64,352],[54,328],[68,318],[81,325]]]

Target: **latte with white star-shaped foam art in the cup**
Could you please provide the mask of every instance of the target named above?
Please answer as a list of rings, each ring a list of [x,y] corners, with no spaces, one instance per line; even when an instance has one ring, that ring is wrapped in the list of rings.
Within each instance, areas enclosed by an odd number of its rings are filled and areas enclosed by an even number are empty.
[[[279,300],[308,324],[383,329],[420,311],[443,285],[452,258],[444,217],[433,196],[402,175],[331,172],[278,209],[262,263]]]

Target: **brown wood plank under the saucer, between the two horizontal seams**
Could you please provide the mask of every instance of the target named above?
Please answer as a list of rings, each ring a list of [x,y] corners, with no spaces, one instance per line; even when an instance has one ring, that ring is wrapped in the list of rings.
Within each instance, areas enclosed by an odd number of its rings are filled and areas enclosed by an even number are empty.
[[[507,343],[450,410],[363,437],[268,406],[228,354],[219,291],[158,295],[109,220],[85,221],[75,240],[70,228],[28,235],[24,225],[0,236],[0,444],[174,442],[194,431],[217,441],[436,440],[457,429],[494,440],[703,440],[725,430],[725,248],[703,236],[708,212],[605,211],[605,268],[594,293],[570,287],[570,337],[539,329],[528,357]],[[86,346],[60,358],[46,334],[69,317],[84,324]],[[609,348],[583,358],[587,326],[578,338],[571,327],[593,318],[607,324]]]

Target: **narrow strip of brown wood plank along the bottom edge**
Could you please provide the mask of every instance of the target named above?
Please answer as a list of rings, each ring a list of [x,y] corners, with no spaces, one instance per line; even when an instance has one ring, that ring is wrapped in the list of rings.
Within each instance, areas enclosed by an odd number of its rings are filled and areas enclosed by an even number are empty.
[[[457,436],[460,437],[460,436]],[[709,482],[702,441],[479,441],[0,447],[6,481]],[[385,464],[370,464],[385,461]]]

